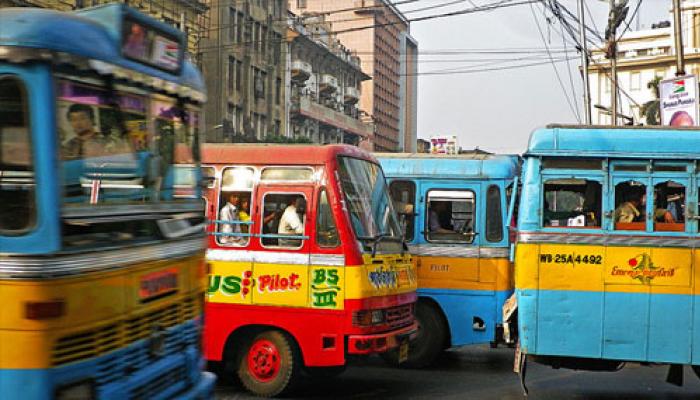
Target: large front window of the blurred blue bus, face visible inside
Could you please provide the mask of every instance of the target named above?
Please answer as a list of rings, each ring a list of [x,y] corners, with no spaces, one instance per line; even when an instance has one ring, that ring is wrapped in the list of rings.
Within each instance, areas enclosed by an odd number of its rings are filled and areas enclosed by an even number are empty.
[[[196,199],[195,109],[64,79],[57,119],[65,205]]]

